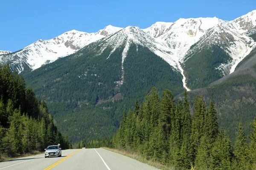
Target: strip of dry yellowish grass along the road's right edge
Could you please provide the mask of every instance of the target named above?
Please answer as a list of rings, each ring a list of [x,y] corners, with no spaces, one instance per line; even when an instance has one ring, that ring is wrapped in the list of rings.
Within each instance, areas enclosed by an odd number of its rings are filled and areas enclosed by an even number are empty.
[[[127,150],[119,150],[119,149],[113,149],[113,148],[108,148],[108,147],[102,147],[102,148],[112,151],[112,152],[115,152],[115,153],[122,154],[124,156],[128,156],[130,158],[136,159],[137,161],[143,162],[145,164],[148,164],[152,167],[156,167],[161,170],[175,170],[175,167],[161,164],[160,162],[155,161],[153,159],[146,159],[140,153],[133,153],[133,152],[129,152]]]

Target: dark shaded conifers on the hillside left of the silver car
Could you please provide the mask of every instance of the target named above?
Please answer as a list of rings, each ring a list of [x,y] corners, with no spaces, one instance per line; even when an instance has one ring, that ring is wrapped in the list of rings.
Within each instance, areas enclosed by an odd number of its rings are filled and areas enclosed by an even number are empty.
[[[62,149],[70,147],[44,100],[38,100],[9,65],[0,65],[0,97],[0,160],[3,155],[42,151],[50,144],[61,144]]]

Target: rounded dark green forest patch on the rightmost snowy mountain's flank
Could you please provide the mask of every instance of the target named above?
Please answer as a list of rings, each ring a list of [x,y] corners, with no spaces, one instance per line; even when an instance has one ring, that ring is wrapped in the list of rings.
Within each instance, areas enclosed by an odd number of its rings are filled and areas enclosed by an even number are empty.
[[[217,45],[186,56],[186,62],[183,65],[188,79],[186,85],[190,89],[206,87],[224,76],[222,71],[216,68],[230,61],[231,57]]]

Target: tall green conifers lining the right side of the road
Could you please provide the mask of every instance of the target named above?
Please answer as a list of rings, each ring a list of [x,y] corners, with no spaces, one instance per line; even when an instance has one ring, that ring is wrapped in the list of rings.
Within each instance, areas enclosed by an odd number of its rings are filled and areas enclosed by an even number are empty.
[[[142,154],[175,169],[254,170],[256,169],[256,118],[251,123],[250,143],[239,124],[233,146],[225,130],[218,127],[217,112],[211,101],[207,107],[196,96],[191,114],[187,93],[175,103],[172,92],[163,97],[152,88],[134,111],[124,111],[113,146]]]

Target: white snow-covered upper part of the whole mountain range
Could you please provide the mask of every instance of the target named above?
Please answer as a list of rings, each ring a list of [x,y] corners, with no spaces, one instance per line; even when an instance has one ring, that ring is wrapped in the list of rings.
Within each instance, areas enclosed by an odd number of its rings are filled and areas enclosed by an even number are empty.
[[[123,64],[131,43],[135,43],[147,47],[175,70],[180,71],[184,88],[189,90],[183,69],[192,54],[199,53],[211,45],[220,46],[231,57],[228,63],[225,61],[215,68],[216,71],[221,70],[224,76],[232,73],[236,65],[256,47],[256,42],[251,37],[253,34],[256,34],[256,10],[233,21],[216,17],[180,18],[173,23],[157,22],[145,29],[107,26],[97,33],[72,30],[51,40],[38,40],[16,53],[0,55],[0,62],[14,65],[25,63],[34,70],[96,42],[101,51],[107,47],[112,49],[108,57],[111,57],[117,48],[124,46]],[[19,72],[24,69],[23,66],[17,68]]]

